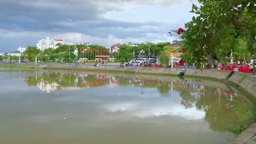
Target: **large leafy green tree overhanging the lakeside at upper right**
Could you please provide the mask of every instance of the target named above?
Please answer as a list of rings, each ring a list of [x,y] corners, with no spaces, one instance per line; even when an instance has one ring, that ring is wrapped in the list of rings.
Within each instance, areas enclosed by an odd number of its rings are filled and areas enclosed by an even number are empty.
[[[243,1],[198,0],[200,7],[193,4],[192,20],[185,23],[187,29],[182,35],[185,63],[193,64],[207,62],[207,55],[225,62],[230,56],[237,35],[245,39],[255,36],[255,3]],[[240,46],[240,45],[239,45]],[[249,49],[249,50],[252,50]]]

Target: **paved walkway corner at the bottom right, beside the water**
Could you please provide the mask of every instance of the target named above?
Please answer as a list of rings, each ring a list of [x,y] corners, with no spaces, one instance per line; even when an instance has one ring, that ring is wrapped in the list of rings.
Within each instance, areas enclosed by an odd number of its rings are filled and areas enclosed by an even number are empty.
[[[256,144],[256,123],[252,124],[228,144]]]

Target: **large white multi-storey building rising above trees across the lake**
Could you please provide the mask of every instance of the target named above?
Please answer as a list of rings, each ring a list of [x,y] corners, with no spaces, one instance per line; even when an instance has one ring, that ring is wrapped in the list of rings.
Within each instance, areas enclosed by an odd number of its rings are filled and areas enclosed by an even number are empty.
[[[37,43],[38,49],[41,51],[44,51],[45,49],[52,48],[56,49],[58,46],[57,44],[64,44],[64,41],[62,39],[50,39],[49,37],[46,37],[45,39],[41,39]]]

